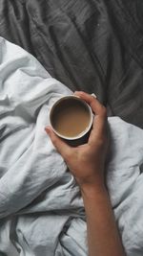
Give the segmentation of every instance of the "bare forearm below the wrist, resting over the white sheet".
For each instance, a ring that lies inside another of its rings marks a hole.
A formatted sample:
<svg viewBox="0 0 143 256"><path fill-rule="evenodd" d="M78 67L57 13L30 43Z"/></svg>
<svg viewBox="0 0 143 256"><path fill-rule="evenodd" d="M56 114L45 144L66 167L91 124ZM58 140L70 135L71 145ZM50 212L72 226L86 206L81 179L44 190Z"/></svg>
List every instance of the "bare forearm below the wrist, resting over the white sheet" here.
<svg viewBox="0 0 143 256"><path fill-rule="evenodd" d="M90 256L125 256L108 193L102 188L82 189Z"/></svg>

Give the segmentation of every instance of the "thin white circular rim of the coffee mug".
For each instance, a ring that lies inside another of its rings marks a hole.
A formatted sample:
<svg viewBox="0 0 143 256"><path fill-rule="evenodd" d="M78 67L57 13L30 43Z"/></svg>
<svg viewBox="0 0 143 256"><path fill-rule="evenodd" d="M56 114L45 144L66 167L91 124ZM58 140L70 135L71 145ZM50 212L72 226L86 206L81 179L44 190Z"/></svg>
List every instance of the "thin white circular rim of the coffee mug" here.
<svg viewBox="0 0 143 256"><path fill-rule="evenodd" d="M51 114L53 112L53 109L56 105L58 105L60 102L62 102L63 100L66 100L66 99L71 99L71 98L75 98L75 100L77 101L80 101L83 105L85 105L88 110L89 110L89 113L90 113L90 122L89 122L89 126L83 130L82 132L80 132L78 135L76 136L65 136L63 134L60 134L55 128L52 127L52 124L51 124L51 128L52 130L54 131L54 133L62 138L62 139L65 139L65 140L70 140L70 141L73 141L73 140L77 140L77 139L80 139L82 138L83 136L85 136L89 131L90 129L92 128L92 121L93 121L93 114L92 114L92 108L90 105L88 105L83 99L81 99L80 97L76 96L76 95L68 95L68 96L62 96L60 97L52 106L51 106L51 110L50 110L50 123L51 123Z"/></svg>

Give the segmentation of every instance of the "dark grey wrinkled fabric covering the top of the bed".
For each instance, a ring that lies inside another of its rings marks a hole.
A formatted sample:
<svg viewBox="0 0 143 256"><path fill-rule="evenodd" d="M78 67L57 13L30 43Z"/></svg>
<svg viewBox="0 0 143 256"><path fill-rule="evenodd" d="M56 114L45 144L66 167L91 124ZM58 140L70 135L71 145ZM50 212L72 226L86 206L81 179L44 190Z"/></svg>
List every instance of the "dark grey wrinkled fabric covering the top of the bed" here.
<svg viewBox="0 0 143 256"><path fill-rule="evenodd" d="M0 0L0 35L143 128L141 0Z"/></svg>

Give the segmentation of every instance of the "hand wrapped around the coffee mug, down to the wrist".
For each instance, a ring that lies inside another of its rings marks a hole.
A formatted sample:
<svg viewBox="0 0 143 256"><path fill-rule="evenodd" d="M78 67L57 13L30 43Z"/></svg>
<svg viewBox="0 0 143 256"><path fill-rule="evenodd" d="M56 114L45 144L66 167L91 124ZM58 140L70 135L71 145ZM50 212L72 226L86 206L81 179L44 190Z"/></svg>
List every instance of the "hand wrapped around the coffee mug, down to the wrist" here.
<svg viewBox="0 0 143 256"><path fill-rule="evenodd" d="M81 187L104 186L104 168L108 149L107 111L97 99L85 92L75 92L92 107L95 114L88 143L72 148L50 127L45 128L56 150L65 159L72 175Z"/></svg>

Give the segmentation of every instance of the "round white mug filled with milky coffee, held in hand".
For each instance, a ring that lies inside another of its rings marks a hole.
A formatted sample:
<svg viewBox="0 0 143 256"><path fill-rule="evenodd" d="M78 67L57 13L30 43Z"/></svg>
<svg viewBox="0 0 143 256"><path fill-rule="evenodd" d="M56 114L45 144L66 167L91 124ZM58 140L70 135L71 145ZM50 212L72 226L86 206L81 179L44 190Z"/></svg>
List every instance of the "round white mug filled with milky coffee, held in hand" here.
<svg viewBox="0 0 143 256"><path fill-rule="evenodd" d="M52 105L50 121L59 137L78 140L92 128L92 108L77 96L65 96Z"/></svg>

